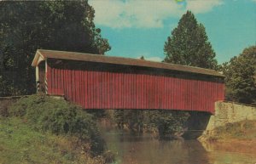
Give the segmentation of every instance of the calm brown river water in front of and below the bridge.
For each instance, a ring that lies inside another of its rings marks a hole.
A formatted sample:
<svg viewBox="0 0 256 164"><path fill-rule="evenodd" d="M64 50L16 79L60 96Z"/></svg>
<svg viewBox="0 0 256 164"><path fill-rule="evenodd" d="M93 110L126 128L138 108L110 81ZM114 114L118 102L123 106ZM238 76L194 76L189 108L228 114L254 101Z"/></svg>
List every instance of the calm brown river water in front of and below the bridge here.
<svg viewBox="0 0 256 164"><path fill-rule="evenodd" d="M101 131L118 164L256 164L256 152L236 145L222 148L197 140L159 141L150 134L136 136L106 127Z"/></svg>

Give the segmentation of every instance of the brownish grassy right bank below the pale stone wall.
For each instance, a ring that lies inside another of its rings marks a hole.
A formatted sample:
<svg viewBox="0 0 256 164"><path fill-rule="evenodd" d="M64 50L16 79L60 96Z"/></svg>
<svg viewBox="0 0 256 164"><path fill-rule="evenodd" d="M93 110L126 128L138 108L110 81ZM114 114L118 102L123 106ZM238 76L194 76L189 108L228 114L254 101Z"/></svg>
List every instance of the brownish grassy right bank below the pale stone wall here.
<svg viewBox="0 0 256 164"><path fill-rule="evenodd" d="M242 121L217 127L199 139L206 150L255 154L256 121Z"/></svg>

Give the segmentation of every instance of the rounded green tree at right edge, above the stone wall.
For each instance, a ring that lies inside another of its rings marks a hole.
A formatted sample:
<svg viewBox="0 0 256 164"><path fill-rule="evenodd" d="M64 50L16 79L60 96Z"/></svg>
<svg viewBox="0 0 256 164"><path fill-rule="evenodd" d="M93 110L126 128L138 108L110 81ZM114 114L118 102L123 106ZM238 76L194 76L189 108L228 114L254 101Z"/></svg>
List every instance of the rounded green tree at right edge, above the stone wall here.
<svg viewBox="0 0 256 164"><path fill-rule="evenodd" d="M226 76L226 99L244 104L256 104L256 46L223 64Z"/></svg>

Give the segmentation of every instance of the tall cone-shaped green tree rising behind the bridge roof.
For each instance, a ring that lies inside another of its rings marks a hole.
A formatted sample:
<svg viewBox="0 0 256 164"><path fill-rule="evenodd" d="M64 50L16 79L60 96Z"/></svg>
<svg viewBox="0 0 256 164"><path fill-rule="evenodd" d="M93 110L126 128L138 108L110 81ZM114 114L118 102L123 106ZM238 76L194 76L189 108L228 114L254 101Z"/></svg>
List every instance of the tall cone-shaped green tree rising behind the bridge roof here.
<svg viewBox="0 0 256 164"><path fill-rule="evenodd" d="M167 37L164 52L167 63L216 69L217 60L212 45L208 42L204 25L198 24L190 11L183 14L172 37Z"/></svg>

